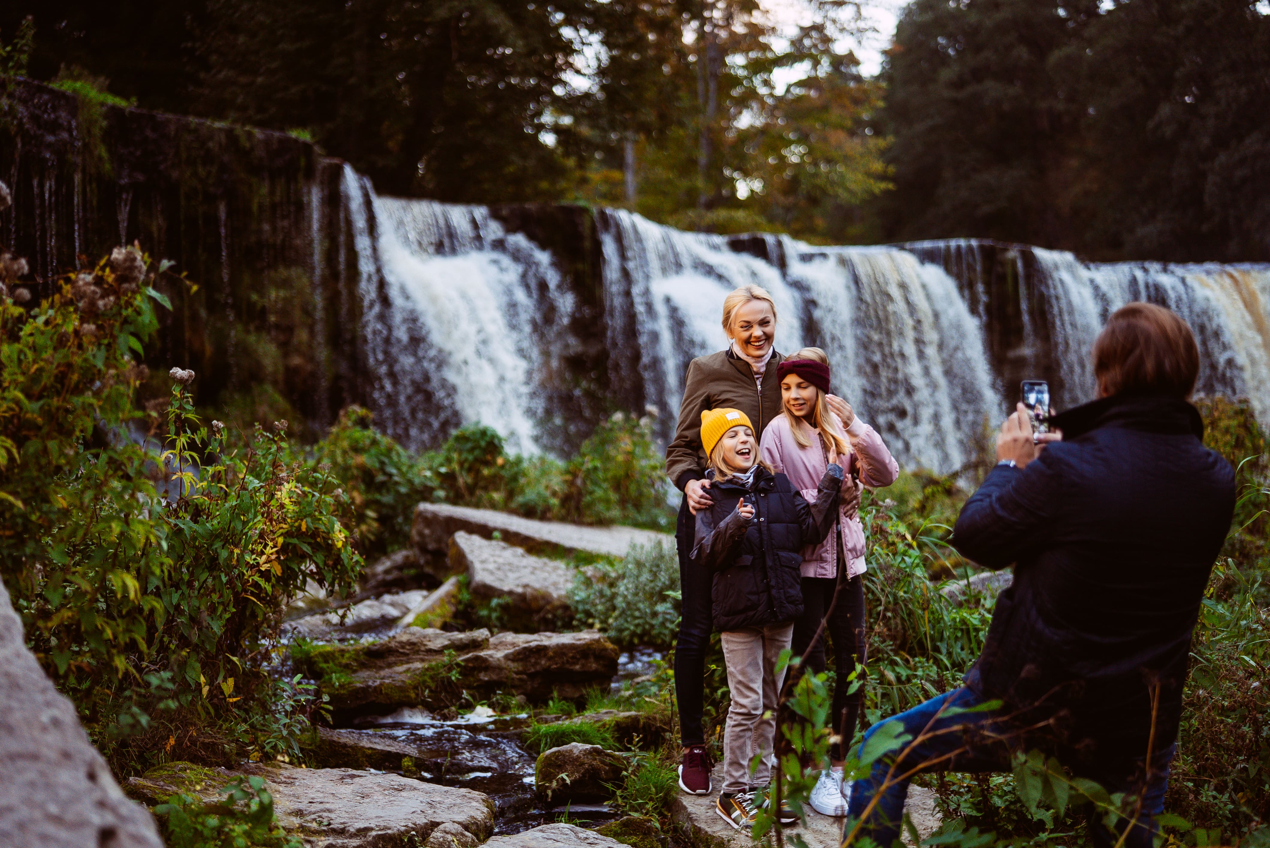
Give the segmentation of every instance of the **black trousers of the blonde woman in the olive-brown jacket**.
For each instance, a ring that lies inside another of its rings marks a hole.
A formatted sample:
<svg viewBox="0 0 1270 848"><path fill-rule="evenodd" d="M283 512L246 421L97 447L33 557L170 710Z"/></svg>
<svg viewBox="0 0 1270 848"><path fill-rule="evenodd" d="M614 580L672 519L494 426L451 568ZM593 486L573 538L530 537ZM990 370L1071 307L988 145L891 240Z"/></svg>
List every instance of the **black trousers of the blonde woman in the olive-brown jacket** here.
<svg viewBox="0 0 1270 848"><path fill-rule="evenodd" d="M679 741L685 748L706 741L701 713L705 711L706 653L710 650L711 630L712 578L704 567L688 560L692 553L692 532L693 515L688 512L688 499L685 496L674 527L682 597L679 636L674 640L674 698L679 705Z"/></svg>

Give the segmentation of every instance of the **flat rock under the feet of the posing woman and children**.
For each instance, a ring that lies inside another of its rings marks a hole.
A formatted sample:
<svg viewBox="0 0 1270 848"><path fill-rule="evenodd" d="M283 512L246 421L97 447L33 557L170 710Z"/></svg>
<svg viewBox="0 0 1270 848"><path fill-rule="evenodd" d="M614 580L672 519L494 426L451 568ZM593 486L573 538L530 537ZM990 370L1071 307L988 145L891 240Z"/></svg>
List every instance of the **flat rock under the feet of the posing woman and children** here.
<svg viewBox="0 0 1270 848"><path fill-rule="evenodd" d="M723 786L723 765L716 765L711 774L714 792L710 795L686 795L677 792L671 807L671 815L677 824L685 828L693 844L700 848L753 848L753 839L748 833L733 830L715 811L715 802L719 798L719 787ZM939 812L935 809L935 793L919 786L908 787L908 800L904 801L904 812L913 820L917 834L926 839L941 824ZM842 842L842 823L845 819L834 819L820 815L808 807L806 825L798 825L792 833L801 834L808 848L838 848ZM912 845L908 834L903 834L906 845Z"/></svg>

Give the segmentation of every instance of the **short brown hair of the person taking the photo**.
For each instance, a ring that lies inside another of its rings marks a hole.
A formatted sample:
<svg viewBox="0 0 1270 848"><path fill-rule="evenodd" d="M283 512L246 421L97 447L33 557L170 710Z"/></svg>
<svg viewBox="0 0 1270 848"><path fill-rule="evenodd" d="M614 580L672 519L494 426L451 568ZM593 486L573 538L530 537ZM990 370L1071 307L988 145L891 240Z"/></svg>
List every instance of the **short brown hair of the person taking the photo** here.
<svg viewBox="0 0 1270 848"><path fill-rule="evenodd" d="M1111 314L1093 343L1093 376L1102 395L1190 397L1199 348L1177 314L1154 303L1129 303Z"/></svg>

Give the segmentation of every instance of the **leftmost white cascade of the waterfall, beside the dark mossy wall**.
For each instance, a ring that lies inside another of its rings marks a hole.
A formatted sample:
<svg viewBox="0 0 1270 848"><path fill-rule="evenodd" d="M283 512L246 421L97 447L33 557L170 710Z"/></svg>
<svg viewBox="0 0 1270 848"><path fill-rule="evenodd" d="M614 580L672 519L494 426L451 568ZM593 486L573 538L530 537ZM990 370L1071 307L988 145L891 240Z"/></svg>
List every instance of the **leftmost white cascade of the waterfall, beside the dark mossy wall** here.
<svg viewBox="0 0 1270 848"><path fill-rule="evenodd" d="M361 292L381 423L418 448L480 421L536 452L547 414L536 388L573 311L551 255L483 206L371 194L368 212L354 234L359 262L372 258Z"/></svg>

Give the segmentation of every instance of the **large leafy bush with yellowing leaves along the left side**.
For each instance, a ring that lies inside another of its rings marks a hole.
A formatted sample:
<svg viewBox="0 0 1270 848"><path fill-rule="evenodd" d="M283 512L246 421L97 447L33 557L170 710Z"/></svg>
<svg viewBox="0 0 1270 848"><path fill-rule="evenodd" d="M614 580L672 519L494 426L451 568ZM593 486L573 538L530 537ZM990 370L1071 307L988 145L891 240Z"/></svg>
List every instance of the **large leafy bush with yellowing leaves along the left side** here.
<svg viewBox="0 0 1270 848"><path fill-rule="evenodd" d="M361 557L337 481L288 462L281 427L226 448L193 414L193 372L173 371L163 454L128 438L165 302L145 274L121 249L29 311L0 301L0 575L117 768L193 736L221 758L281 753L316 708L295 687L268 703L283 600L351 589Z"/></svg>

